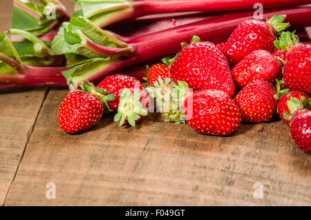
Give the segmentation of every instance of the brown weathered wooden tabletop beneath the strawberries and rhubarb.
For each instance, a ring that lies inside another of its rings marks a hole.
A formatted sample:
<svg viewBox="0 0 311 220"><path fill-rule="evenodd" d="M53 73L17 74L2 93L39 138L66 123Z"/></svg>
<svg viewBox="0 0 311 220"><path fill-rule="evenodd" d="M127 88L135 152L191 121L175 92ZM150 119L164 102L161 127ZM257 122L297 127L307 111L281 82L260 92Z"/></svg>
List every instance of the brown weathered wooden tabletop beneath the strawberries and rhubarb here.
<svg viewBox="0 0 311 220"><path fill-rule="evenodd" d="M0 11L3 32L11 1L0 1ZM137 128L119 128L107 114L92 130L70 135L57 123L67 92L0 91L1 205L311 204L311 157L294 146L281 121L211 137L158 114ZM46 197L49 182L56 199Z"/></svg>

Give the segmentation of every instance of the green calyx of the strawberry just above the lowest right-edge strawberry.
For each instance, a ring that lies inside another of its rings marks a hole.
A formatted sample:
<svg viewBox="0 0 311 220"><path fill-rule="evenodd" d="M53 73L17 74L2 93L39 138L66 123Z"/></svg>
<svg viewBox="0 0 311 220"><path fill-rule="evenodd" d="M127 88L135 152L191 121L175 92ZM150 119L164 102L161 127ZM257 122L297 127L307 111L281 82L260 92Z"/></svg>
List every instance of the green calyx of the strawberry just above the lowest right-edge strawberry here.
<svg viewBox="0 0 311 220"><path fill-rule="evenodd" d="M297 98L290 96L290 100L286 101L286 103L288 106L289 114L287 112L284 112L283 117L284 119L291 121L294 112L303 109L308 110L310 108L311 98L305 99L305 97L301 96L301 100L299 100Z"/></svg>

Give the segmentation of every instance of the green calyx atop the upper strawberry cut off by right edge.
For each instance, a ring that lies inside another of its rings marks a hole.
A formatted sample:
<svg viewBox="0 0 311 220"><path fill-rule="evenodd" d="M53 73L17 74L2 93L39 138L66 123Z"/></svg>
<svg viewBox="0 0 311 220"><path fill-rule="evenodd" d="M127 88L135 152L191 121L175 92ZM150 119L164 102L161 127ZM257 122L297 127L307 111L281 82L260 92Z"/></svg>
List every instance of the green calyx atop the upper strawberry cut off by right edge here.
<svg viewBox="0 0 311 220"><path fill-rule="evenodd" d="M299 44L299 37L294 32L282 32L281 36L274 41L274 46L280 50L289 52L292 48Z"/></svg>

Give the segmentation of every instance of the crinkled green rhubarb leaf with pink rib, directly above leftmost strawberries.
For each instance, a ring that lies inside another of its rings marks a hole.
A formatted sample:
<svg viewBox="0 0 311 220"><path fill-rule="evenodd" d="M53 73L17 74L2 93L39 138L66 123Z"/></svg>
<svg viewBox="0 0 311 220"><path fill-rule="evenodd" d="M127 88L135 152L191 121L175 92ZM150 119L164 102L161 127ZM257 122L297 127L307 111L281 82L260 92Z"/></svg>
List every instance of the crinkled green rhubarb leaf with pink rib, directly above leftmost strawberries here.
<svg viewBox="0 0 311 220"><path fill-rule="evenodd" d="M50 50L50 54L68 53L109 60L115 55L129 55L133 50L91 21L83 17L73 17L69 23L63 23L63 27L59 28Z"/></svg>

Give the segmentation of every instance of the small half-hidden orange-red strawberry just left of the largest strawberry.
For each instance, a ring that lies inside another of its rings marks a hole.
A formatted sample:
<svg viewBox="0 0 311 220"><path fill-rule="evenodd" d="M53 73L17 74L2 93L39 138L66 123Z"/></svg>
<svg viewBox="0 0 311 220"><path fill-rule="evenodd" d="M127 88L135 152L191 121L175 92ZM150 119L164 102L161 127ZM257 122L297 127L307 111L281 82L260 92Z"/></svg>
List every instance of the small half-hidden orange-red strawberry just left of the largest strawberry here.
<svg viewBox="0 0 311 220"><path fill-rule="evenodd" d="M171 68L164 63L157 63L151 66L150 69L147 67L147 70L149 86L154 86L153 83L158 81L159 77L162 79L171 78Z"/></svg>

